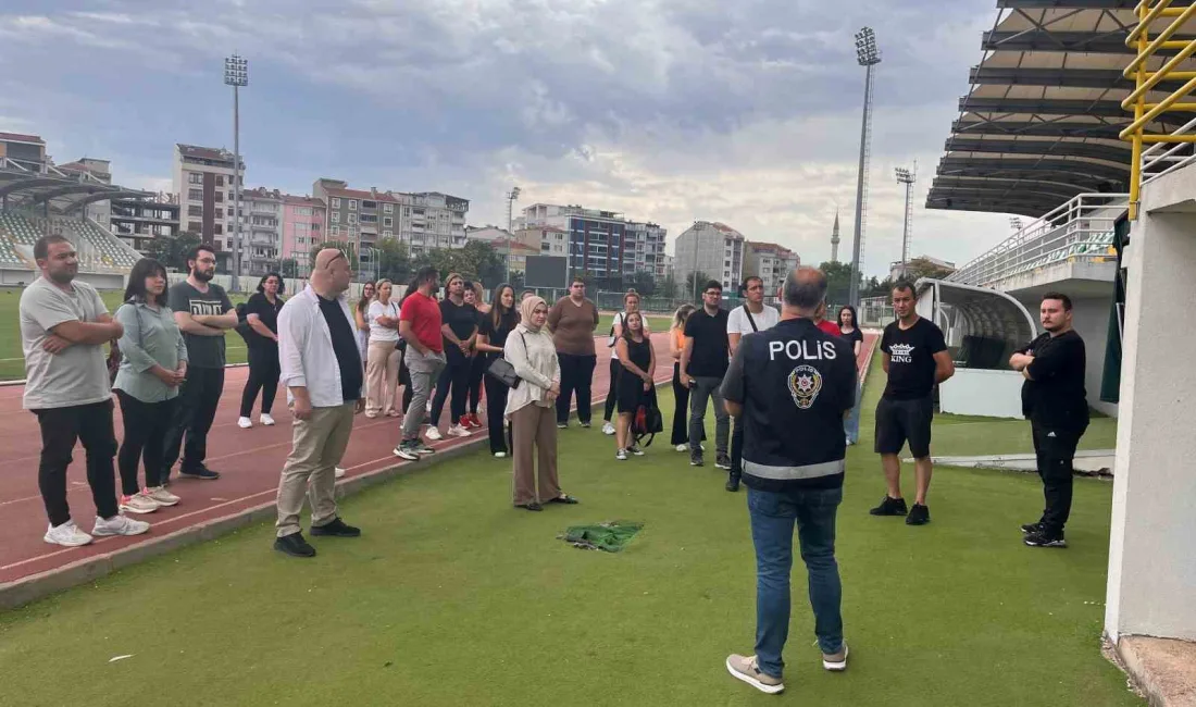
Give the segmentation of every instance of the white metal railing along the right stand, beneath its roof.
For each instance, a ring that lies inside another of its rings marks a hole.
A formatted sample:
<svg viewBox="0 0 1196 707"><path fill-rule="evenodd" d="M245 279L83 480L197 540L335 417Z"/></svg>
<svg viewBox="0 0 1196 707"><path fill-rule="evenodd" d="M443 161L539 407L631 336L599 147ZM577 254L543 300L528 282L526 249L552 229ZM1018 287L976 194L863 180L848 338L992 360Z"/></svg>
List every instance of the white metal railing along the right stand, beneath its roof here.
<svg viewBox="0 0 1196 707"><path fill-rule="evenodd" d="M1013 275L1058 262L1116 258L1113 224L1125 212L1128 196L1080 194L959 268L947 280L993 287Z"/></svg>

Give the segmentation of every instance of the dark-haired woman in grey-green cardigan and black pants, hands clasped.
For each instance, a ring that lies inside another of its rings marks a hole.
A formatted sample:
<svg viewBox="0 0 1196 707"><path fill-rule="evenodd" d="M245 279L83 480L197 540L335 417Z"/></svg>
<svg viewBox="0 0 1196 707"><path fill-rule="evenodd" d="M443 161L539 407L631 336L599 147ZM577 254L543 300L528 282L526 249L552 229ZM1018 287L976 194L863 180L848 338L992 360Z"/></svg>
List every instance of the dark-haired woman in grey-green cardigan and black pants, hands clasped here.
<svg viewBox="0 0 1196 707"><path fill-rule="evenodd" d="M187 378L187 345L166 306L166 268L141 258L129 273L124 304L116 310L124 327L117 342L121 367L112 390L121 402L124 439L116 456L121 470L121 510L152 513L179 498L161 486L166 428L175 418L178 386ZM146 484L138 483L138 462L145 458Z"/></svg>

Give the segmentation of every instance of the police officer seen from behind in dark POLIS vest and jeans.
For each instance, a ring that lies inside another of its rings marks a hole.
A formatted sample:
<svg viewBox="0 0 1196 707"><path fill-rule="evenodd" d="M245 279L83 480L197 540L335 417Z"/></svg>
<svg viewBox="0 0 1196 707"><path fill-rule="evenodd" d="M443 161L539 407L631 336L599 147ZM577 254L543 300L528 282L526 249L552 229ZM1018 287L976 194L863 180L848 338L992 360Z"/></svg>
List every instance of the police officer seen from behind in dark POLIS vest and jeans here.
<svg viewBox="0 0 1196 707"><path fill-rule="evenodd" d="M722 384L727 412L744 423L743 483L756 548L756 654L730 656L726 665L764 693L785 689L794 524L823 668L847 668L835 517L843 499L843 415L855 402L855 356L846 340L812 321L826 295L825 274L798 268L780 295L780 323L740 340Z"/></svg>

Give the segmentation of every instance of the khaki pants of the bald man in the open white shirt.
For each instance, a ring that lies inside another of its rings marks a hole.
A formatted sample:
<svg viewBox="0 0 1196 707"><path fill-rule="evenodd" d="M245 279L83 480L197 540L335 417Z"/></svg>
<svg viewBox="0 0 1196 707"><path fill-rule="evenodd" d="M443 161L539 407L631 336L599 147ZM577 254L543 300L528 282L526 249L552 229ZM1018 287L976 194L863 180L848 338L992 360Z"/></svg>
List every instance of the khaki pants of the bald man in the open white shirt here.
<svg viewBox="0 0 1196 707"><path fill-rule="evenodd" d="M279 520L274 524L279 537L299 532L304 496L311 499L312 528L336 518L336 465L349 446L354 407L356 401L313 408L311 419L294 421L291 456L279 480Z"/></svg>

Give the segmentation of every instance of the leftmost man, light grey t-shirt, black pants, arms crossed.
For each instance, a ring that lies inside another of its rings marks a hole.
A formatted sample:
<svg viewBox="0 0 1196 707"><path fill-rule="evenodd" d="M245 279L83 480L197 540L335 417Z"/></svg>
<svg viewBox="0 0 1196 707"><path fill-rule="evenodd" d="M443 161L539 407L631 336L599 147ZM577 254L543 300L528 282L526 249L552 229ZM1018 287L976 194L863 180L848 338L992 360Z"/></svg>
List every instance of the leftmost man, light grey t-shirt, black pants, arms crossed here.
<svg viewBox="0 0 1196 707"><path fill-rule="evenodd" d="M20 294L26 379L22 402L42 428L37 484L50 519L44 540L78 547L90 543L92 535L141 535L150 524L121 516L116 502L112 391L103 352L103 345L120 339L124 328L112 321L94 287L74 282L79 261L69 240L39 238L33 260L42 276ZM92 535L74 524L67 505L67 467L75 440L87 455L87 484L96 504Z"/></svg>

